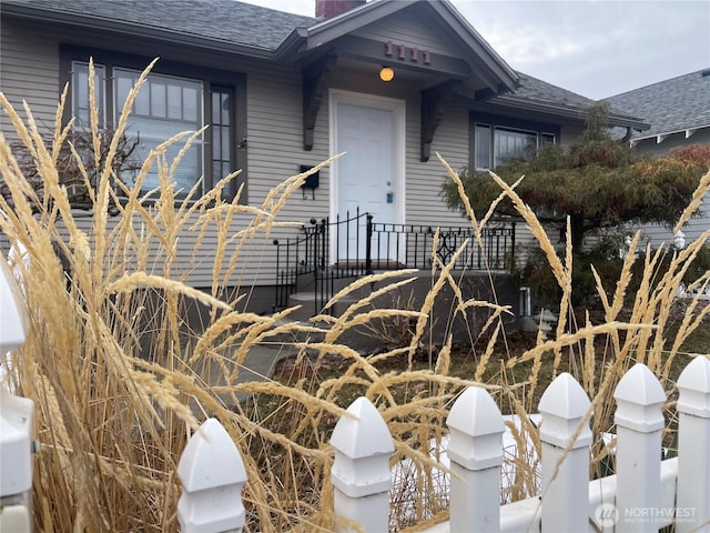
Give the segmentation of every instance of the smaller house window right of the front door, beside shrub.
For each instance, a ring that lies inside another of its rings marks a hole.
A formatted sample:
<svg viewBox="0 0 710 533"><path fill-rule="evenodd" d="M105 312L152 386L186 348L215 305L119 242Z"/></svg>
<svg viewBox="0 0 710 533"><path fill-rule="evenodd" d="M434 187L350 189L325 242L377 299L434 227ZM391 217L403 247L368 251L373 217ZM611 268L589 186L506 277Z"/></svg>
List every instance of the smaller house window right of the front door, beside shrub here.
<svg viewBox="0 0 710 533"><path fill-rule="evenodd" d="M523 122L516 127L510 119L480 114L471 121L471 162L476 170L500 167L514 158L534 158L540 147L554 143L559 135L554 132L559 128L551 124Z"/></svg>

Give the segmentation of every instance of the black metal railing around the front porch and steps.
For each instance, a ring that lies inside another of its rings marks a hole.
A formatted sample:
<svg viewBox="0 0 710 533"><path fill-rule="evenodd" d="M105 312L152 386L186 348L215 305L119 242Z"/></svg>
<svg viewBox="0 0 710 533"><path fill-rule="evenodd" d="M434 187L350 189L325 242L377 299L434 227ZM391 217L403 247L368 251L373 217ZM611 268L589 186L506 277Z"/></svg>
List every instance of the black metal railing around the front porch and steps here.
<svg viewBox="0 0 710 533"><path fill-rule="evenodd" d="M508 270L515 249L515 223L499 222L485 228L481 239L470 227L437 228L416 224L374 222L369 213L357 210L344 219L311 219L295 239L275 240L276 309L288 305L292 294L314 295L314 314L341 289L337 280L357 279L375 271L429 269L434 253L448 263L466 240L466 248L454 265L457 270Z"/></svg>

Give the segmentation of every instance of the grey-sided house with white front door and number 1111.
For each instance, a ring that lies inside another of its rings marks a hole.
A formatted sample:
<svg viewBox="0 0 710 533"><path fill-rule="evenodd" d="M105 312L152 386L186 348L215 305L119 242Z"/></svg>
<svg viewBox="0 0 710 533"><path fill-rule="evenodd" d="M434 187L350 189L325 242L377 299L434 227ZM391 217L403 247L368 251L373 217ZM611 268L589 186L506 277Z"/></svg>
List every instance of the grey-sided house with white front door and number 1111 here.
<svg viewBox="0 0 710 533"><path fill-rule="evenodd" d="M242 169L240 201L252 205L285 178L346 152L311 178L281 218L307 225L359 213L349 238L337 230L321 259L367 270L373 261L412 265L397 255L403 242L410 247L405 228L430 235L468 225L439 201L446 172L436 152L457 170L491 168L530 145L570 142L584 129L580 109L590 100L514 71L447 0L314 2L315 18L233 0L2 0L0 89L51 124L70 83L65 119L73 113L81 127L93 58L102 119L111 123L140 71L160 58L133 107L129 132L140 133L140 150L207 125L178 170L179 187L203 177L207 189ZM646 128L616 111L610 122ZM381 224L377 244L365 239L365 212ZM234 230L245 220L235 217ZM282 243L285 231L276 235ZM449 252L455 234L447 233ZM506 249L514 242L513 233L491 238ZM187 281L207 288L213 258L195 261L194 239L185 233L176 253ZM271 239L252 247L260 259L241 283L273 288L278 247ZM271 308L268 294L256 311Z"/></svg>

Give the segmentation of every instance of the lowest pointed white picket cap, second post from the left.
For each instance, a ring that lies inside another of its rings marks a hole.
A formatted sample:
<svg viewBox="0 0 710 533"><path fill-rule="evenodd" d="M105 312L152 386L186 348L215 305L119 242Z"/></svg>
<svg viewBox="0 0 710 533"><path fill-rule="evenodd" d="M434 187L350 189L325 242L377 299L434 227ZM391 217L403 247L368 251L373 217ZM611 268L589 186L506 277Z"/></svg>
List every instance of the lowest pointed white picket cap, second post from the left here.
<svg viewBox="0 0 710 533"><path fill-rule="evenodd" d="M242 456L216 419L207 419L190 439L178 464L178 476L189 492L246 481Z"/></svg>

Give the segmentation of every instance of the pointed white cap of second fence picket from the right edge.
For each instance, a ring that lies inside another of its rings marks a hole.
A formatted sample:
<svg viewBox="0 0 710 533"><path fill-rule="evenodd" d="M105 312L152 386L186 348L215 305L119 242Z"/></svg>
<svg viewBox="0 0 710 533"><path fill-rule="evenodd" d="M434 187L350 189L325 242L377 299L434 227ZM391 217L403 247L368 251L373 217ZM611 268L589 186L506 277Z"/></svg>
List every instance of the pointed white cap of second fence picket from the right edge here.
<svg viewBox="0 0 710 533"><path fill-rule="evenodd" d="M640 433L651 433L663 428L661 405L666 402L666 392L643 363L636 363L619 380L613 399L617 401L613 415L617 425Z"/></svg>

